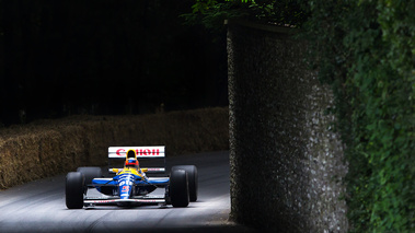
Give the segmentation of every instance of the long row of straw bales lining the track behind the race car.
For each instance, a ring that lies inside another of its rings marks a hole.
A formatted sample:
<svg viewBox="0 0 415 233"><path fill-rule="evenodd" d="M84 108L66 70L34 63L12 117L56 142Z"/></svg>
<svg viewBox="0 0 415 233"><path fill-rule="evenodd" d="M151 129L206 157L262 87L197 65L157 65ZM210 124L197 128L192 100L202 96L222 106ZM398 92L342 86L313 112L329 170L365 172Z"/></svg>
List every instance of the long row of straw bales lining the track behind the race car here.
<svg viewBox="0 0 415 233"><path fill-rule="evenodd" d="M108 147L166 145L168 156L229 149L228 108L138 116L71 116L0 129L0 189L102 166Z"/></svg>

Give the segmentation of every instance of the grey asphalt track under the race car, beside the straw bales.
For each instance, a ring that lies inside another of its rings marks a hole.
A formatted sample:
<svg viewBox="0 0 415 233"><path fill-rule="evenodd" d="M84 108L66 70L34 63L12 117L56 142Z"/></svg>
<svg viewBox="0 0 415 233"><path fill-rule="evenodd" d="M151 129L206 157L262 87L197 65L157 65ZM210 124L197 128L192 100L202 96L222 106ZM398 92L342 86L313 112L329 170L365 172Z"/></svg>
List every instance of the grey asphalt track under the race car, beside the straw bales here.
<svg viewBox="0 0 415 233"><path fill-rule="evenodd" d="M168 167L178 164L198 168L198 200L187 208L69 210L65 175L60 175L0 191L0 232L253 232L228 221L229 152L168 158Z"/></svg>

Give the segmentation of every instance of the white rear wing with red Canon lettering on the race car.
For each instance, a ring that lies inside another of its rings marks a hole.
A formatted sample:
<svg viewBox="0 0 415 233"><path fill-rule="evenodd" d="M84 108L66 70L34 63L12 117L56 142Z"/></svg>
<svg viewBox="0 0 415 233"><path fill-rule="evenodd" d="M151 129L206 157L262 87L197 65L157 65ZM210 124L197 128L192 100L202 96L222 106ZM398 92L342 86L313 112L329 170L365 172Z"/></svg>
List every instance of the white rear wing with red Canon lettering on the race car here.
<svg viewBox="0 0 415 233"><path fill-rule="evenodd" d="M114 173L113 168L111 167L109 161L118 160L118 161L124 162L126 160L126 153L128 150L135 150L136 151L137 160L140 162L140 167L141 167L141 161L149 160L149 159L159 159L158 164L163 163L163 165L164 165L164 167L146 167L146 168L148 168L148 171L146 173L163 173L163 174L165 173L165 147L164 145L158 145L158 147L109 147L108 148L108 173ZM160 162L160 160L163 160L163 161ZM153 164L153 163L151 163L151 164ZM143 168L143 167L141 167L141 168Z"/></svg>

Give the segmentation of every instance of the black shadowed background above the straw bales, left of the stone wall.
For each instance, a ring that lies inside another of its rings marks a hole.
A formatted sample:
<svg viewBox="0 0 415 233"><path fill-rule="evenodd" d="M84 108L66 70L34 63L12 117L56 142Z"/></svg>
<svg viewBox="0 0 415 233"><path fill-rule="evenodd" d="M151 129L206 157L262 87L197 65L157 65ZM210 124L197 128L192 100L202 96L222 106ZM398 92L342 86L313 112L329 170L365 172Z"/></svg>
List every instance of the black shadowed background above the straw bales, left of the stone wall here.
<svg viewBox="0 0 415 233"><path fill-rule="evenodd" d="M0 126L224 106L226 33L193 0L0 0Z"/></svg>

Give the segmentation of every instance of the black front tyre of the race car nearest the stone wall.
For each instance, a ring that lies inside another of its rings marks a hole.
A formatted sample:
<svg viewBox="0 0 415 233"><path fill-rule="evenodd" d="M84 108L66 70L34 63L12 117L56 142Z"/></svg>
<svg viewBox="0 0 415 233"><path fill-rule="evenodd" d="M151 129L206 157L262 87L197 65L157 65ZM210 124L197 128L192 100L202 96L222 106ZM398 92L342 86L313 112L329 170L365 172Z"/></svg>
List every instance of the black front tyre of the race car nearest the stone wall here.
<svg viewBox="0 0 415 233"><path fill-rule="evenodd" d="M184 170L174 170L170 175L170 201L173 207L187 207L188 182L187 173Z"/></svg>

